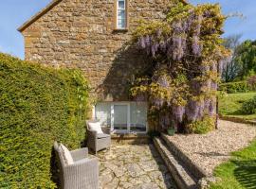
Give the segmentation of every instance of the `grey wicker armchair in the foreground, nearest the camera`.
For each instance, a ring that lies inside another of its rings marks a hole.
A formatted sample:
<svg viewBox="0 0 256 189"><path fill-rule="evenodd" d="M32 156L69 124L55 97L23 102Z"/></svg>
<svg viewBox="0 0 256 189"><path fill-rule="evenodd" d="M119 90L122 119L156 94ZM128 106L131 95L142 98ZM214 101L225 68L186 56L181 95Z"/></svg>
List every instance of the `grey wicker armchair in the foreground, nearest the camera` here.
<svg viewBox="0 0 256 189"><path fill-rule="evenodd" d="M99 163L97 158L88 159L88 148L70 151L74 163L66 164L57 142L54 149L60 168L62 189L98 189Z"/></svg>

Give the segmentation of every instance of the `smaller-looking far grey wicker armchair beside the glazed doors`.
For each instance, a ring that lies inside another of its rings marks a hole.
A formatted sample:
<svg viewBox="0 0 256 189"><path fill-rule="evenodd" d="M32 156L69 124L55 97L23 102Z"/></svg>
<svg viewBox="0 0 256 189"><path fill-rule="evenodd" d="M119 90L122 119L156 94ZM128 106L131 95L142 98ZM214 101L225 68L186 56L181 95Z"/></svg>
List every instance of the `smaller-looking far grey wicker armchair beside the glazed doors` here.
<svg viewBox="0 0 256 189"><path fill-rule="evenodd" d="M101 149L109 148L111 146L111 135L109 128L101 128L103 134L97 134L96 131L91 130L89 128L89 123L98 122L97 120L87 120L86 127L87 127L87 146L93 150L96 154Z"/></svg>

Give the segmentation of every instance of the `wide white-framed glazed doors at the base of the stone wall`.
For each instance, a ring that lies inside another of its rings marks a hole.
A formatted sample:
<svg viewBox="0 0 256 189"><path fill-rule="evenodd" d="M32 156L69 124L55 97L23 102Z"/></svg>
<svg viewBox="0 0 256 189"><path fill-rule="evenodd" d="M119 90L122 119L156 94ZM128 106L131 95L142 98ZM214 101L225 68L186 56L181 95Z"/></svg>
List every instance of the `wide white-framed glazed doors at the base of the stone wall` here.
<svg viewBox="0 0 256 189"><path fill-rule="evenodd" d="M113 133L145 133L147 110L146 102L100 102L93 114Z"/></svg>

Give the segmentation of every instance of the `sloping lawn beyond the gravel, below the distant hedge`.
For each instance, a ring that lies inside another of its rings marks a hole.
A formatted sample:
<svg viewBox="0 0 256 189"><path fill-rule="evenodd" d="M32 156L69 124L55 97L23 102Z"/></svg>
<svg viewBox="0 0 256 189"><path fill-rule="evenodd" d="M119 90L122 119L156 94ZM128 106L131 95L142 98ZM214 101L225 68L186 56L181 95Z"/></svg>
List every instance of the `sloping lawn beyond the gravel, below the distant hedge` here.
<svg viewBox="0 0 256 189"><path fill-rule="evenodd" d="M239 117L246 120L256 119L256 114L243 114L240 110L242 104L252 98L256 93L228 94L219 97L219 113L226 116Z"/></svg>

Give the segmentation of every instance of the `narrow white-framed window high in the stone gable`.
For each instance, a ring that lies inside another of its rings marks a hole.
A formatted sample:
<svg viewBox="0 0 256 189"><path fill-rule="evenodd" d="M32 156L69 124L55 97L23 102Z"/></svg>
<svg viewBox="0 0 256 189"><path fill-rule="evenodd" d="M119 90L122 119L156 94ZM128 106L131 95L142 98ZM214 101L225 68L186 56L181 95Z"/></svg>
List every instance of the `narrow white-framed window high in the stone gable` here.
<svg viewBox="0 0 256 189"><path fill-rule="evenodd" d="M127 26L126 17L126 0L116 0L117 1L117 28L125 29Z"/></svg>

